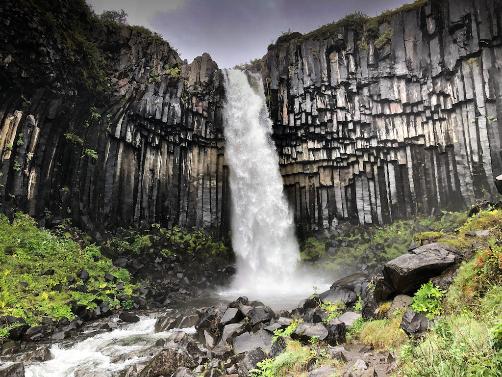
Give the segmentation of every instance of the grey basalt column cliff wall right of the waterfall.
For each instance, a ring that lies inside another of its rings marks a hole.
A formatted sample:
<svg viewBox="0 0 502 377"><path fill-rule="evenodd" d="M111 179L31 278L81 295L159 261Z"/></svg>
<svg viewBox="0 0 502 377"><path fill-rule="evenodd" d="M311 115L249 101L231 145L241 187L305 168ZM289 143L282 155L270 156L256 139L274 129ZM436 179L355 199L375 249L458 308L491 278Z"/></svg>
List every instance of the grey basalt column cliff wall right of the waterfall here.
<svg viewBox="0 0 502 377"><path fill-rule="evenodd" d="M496 193L501 11L491 0L429 3L395 14L381 49L343 28L269 48L254 69L271 82L297 223L382 223Z"/></svg>

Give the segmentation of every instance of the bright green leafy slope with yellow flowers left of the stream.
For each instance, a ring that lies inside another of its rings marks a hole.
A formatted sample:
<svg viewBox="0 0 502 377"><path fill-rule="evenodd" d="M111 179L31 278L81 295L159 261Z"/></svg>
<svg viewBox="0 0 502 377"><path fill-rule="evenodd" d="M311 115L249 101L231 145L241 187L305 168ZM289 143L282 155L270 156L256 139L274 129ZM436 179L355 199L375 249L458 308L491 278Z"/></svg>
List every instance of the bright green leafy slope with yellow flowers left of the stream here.
<svg viewBox="0 0 502 377"><path fill-rule="evenodd" d="M85 281L89 293L75 290L82 284L77 277L81 269L90 275ZM124 289L118 291L106 281L107 273L124 282ZM75 282L69 284L68 276ZM58 285L61 292L55 288ZM112 266L98 246L79 244L70 234L40 231L29 215L16 213L14 224L0 215L0 315L22 317L30 325L39 324L43 317L71 320L74 315L65 305L68 301L92 309L96 306L92 300L99 298L109 301L113 309L121 305L116 297L131 295L134 288L130 273Z"/></svg>

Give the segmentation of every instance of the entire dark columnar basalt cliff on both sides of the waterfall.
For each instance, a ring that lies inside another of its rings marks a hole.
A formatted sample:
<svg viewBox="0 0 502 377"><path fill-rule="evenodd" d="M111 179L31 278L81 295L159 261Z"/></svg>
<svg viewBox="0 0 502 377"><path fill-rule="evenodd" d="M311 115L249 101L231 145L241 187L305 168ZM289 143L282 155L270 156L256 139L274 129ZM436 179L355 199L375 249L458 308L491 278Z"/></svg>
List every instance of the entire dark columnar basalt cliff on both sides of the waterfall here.
<svg viewBox="0 0 502 377"><path fill-rule="evenodd" d="M64 26L68 4L56 20L23 4L0 9L3 210L95 232L156 222L226 234L223 76L209 55L189 64L166 42L102 24L79 49L48 25ZM344 25L280 38L253 67L301 230L496 193L502 6L419 2L381 20L372 35Z"/></svg>

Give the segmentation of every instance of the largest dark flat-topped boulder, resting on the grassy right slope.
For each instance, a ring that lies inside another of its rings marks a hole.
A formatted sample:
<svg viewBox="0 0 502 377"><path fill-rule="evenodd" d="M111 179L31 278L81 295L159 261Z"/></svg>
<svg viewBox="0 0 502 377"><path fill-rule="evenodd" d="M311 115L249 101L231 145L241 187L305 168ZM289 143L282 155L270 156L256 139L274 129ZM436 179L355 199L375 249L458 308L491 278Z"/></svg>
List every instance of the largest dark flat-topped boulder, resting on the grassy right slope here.
<svg viewBox="0 0 502 377"><path fill-rule="evenodd" d="M395 292L413 293L429 278L440 275L459 261L461 255L459 250L446 243L423 245L388 262L384 266L384 278Z"/></svg>

